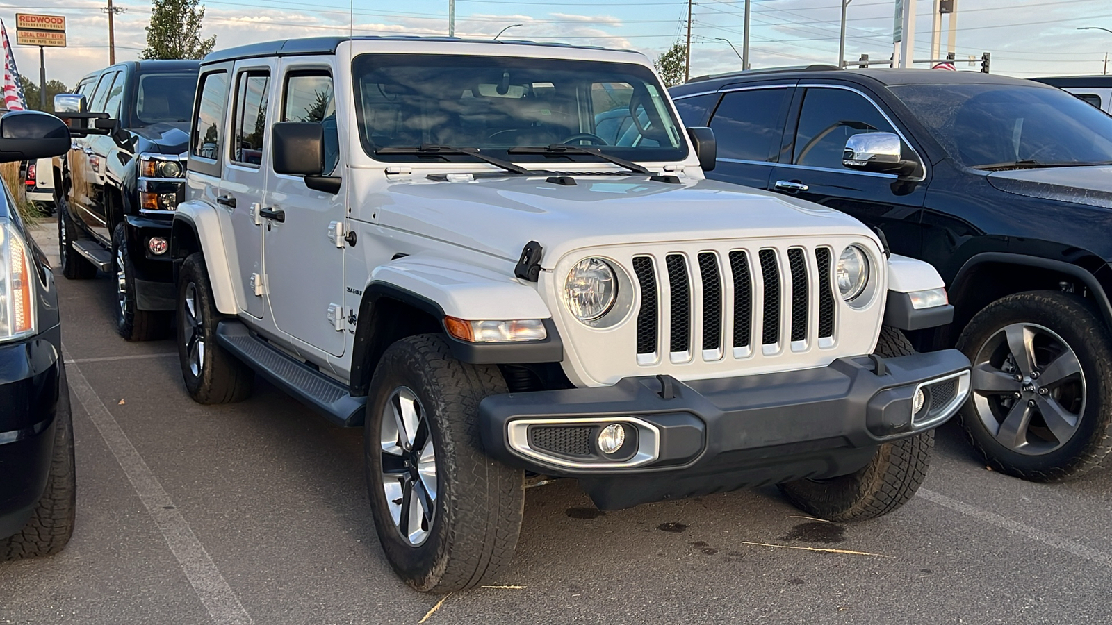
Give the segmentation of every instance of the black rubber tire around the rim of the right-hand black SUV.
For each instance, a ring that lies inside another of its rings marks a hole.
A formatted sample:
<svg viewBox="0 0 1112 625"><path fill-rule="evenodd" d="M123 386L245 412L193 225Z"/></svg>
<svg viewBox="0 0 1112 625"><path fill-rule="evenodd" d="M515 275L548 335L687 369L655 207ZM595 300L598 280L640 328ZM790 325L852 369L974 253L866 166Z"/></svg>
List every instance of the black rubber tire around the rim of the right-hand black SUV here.
<svg viewBox="0 0 1112 625"><path fill-rule="evenodd" d="M995 468L1029 479L1068 477L1084 468L1109 435L1109 419L1112 418L1109 333L1085 299L1058 291L1027 291L996 300L974 315L962 331L957 348L974 360L989 338L1005 326L1019 323L1051 329L1078 356L1085 379L1085 410L1078 430L1058 449L1033 456L996 442L977 415L972 397L962 406L959 420L973 445Z"/></svg>

